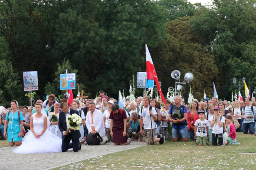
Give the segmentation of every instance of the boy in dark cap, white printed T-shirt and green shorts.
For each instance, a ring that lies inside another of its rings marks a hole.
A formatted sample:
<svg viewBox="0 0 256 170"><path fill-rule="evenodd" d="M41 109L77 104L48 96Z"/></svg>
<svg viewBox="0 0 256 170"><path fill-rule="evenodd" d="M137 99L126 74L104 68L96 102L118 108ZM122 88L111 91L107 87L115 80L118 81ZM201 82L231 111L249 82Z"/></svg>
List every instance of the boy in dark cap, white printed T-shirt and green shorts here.
<svg viewBox="0 0 256 170"><path fill-rule="evenodd" d="M208 145L209 140L209 122L204 119L204 111L198 112L199 119L195 122L195 139L196 143L201 145ZM208 139L208 140L207 140Z"/></svg>

